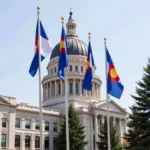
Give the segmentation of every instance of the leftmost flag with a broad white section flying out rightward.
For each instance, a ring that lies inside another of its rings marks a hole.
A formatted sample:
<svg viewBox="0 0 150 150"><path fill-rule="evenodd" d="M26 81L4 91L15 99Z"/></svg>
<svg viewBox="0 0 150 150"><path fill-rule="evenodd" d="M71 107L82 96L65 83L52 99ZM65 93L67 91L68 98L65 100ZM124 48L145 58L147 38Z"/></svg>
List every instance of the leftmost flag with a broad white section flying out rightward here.
<svg viewBox="0 0 150 150"><path fill-rule="evenodd" d="M40 51L41 51L41 61L45 59L45 57L52 52L52 44L49 41L42 22L40 21L40 27L38 26L38 21L37 21L37 26L36 26L36 35L35 35L35 54L33 57L33 60L31 62L31 66L29 69L29 73L31 76L35 76L37 69L39 68L39 48L38 48L38 29L40 28Z"/></svg>

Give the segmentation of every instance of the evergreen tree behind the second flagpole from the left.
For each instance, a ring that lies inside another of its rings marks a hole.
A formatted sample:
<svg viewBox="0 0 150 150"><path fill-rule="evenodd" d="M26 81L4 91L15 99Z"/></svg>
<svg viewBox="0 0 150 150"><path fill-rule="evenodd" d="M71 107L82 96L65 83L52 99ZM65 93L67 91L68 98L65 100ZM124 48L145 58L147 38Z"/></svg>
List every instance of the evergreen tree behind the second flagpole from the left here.
<svg viewBox="0 0 150 150"><path fill-rule="evenodd" d="M68 111L70 150L84 150L87 145L84 135L84 126L80 124L77 112L72 105ZM66 150L66 120L61 124L61 132L57 138L57 150Z"/></svg>

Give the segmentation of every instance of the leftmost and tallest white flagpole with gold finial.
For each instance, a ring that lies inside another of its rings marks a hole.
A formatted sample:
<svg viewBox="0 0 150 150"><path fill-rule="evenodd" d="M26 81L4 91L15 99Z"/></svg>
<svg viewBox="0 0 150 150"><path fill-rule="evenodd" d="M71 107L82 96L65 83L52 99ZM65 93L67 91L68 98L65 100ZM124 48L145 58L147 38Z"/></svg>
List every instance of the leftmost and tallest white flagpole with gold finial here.
<svg viewBox="0 0 150 150"><path fill-rule="evenodd" d="M40 150L43 150L43 116L42 116L42 94L41 94L41 41L40 41L40 7L37 7L37 15L38 15L38 54L39 54L39 106L40 106Z"/></svg>

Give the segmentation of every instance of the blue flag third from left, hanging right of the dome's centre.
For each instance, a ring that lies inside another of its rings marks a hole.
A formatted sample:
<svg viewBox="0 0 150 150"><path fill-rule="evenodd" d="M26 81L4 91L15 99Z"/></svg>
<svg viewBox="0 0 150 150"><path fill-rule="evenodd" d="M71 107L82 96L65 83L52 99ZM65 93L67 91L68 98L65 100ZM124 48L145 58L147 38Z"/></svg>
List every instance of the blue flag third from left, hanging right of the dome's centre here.
<svg viewBox="0 0 150 150"><path fill-rule="evenodd" d="M82 88L85 90L92 90L92 79L93 79L93 66L95 66L91 42L89 41L88 45L88 56L86 62L86 72L82 84Z"/></svg>

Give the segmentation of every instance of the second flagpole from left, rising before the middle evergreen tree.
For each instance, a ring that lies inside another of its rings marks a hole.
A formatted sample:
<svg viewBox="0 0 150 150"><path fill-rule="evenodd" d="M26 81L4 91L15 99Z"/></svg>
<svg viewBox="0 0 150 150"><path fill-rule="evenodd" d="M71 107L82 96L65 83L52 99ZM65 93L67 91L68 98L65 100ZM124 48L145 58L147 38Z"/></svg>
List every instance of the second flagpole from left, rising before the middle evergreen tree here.
<svg viewBox="0 0 150 150"><path fill-rule="evenodd" d="M61 17L62 25L64 18ZM69 123L68 123L68 82L67 82L67 67L65 68L65 116L66 116L66 150L69 150Z"/></svg>

